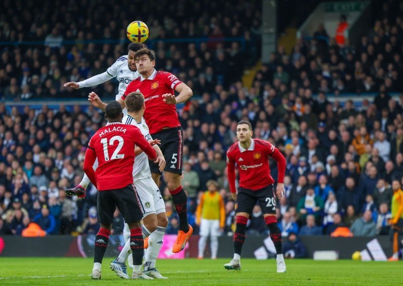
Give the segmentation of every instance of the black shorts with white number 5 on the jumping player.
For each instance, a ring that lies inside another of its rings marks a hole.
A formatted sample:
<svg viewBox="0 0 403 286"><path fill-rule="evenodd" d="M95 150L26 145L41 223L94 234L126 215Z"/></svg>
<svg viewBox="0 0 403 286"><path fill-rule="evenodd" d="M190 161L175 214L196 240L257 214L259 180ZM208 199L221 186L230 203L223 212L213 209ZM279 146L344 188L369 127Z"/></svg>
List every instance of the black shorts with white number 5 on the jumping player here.
<svg viewBox="0 0 403 286"><path fill-rule="evenodd" d="M167 165L166 172L182 174L183 160L183 130L182 127L174 127L161 130L158 133L151 134L153 139L160 139L162 154L165 157ZM151 173L160 173L158 164L149 161Z"/></svg>

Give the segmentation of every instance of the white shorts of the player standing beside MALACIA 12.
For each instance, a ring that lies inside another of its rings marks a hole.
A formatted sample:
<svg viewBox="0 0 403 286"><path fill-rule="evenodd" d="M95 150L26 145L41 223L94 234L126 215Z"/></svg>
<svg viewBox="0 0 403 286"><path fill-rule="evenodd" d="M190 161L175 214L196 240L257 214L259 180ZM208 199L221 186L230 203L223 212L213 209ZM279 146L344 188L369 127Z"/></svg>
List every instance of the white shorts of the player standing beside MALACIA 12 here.
<svg viewBox="0 0 403 286"><path fill-rule="evenodd" d="M158 215L158 213L165 212L164 199L151 177L135 181L135 187L139 195L143 218L151 213Z"/></svg>

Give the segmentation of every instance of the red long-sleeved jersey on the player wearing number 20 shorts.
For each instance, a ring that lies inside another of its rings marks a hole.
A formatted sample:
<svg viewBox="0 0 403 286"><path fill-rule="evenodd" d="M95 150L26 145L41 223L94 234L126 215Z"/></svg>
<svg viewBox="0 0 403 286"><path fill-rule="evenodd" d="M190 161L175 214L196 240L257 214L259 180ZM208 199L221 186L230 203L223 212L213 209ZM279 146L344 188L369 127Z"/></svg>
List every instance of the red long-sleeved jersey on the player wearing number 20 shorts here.
<svg viewBox="0 0 403 286"><path fill-rule="evenodd" d="M228 180L231 192L235 189L235 166L239 171L239 186L250 190L258 190L274 183L270 173L268 157L278 162L278 182L283 183L286 159L270 142L252 139L248 150L243 149L239 142L234 143L227 151Z"/></svg>

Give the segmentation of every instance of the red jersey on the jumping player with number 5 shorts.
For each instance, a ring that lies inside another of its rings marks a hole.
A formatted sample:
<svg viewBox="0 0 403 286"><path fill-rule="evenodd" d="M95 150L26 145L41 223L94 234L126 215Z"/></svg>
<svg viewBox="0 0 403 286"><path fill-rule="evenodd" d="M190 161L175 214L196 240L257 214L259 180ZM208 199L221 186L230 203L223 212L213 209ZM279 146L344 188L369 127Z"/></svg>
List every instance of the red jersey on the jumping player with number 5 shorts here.
<svg viewBox="0 0 403 286"><path fill-rule="evenodd" d="M142 76L132 81L126 88L122 99L131 92L141 92L145 98L146 111L144 118L150 127L150 133L154 134L163 128L174 128L180 126L178 113L175 104L163 102L163 94L174 94L176 86L182 82L168 72L157 72L145 79Z"/></svg>

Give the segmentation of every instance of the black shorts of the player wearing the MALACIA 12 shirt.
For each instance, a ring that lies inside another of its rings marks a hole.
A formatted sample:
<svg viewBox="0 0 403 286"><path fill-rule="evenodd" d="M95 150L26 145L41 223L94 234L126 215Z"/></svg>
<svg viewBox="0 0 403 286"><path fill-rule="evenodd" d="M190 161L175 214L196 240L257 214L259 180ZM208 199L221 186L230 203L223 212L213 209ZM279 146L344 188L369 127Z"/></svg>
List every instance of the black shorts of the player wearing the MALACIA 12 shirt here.
<svg viewBox="0 0 403 286"><path fill-rule="evenodd" d="M113 223L116 206L127 224L143 219L139 197L133 185L116 190L98 191L97 209L98 220L101 224Z"/></svg>

